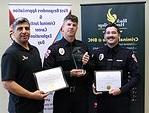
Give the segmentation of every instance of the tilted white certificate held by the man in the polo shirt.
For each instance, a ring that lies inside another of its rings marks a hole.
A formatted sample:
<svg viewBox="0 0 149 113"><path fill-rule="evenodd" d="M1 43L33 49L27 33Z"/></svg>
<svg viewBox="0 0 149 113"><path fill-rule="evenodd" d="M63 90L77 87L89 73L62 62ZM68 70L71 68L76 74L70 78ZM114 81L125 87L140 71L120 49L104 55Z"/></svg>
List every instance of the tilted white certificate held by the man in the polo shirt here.
<svg viewBox="0 0 149 113"><path fill-rule="evenodd" d="M39 90L45 93L68 87L61 67L36 72L34 76Z"/></svg>

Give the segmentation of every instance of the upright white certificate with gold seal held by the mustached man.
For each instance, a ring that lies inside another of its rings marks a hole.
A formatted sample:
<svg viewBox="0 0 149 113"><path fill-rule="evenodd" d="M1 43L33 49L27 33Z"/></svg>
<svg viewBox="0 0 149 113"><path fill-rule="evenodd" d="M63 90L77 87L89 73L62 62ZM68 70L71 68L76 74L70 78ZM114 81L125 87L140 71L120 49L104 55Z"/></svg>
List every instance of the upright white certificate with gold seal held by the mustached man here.
<svg viewBox="0 0 149 113"><path fill-rule="evenodd" d="M122 71L95 71L96 91L109 91L121 87Z"/></svg>

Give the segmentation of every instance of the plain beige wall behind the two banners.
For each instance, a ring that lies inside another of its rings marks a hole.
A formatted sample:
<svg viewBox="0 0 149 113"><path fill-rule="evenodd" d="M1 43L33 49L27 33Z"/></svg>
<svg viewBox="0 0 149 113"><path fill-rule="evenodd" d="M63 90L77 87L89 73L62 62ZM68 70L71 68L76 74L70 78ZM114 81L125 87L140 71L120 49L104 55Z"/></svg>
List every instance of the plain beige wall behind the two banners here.
<svg viewBox="0 0 149 113"><path fill-rule="evenodd" d="M71 3L72 4L72 13L79 17L81 20L81 10L80 4L85 3L113 3L113 2L136 2L136 1L143 1L143 0L25 0L26 3ZM0 4L0 34L1 34L1 41L0 41L0 58L5 49L10 44L9 39L9 29L8 29L8 3L24 3L24 0L1 0ZM145 113L149 113L149 54L148 48L149 45L149 0L146 0L146 7L145 7ZM136 23L137 24L137 23ZM80 24L81 25L81 24ZM77 36L81 36L80 31L81 26L79 27ZM142 95L143 96L143 95ZM8 94L6 90L2 87L0 82L0 113L7 113L7 102L8 102Z"/></svg>

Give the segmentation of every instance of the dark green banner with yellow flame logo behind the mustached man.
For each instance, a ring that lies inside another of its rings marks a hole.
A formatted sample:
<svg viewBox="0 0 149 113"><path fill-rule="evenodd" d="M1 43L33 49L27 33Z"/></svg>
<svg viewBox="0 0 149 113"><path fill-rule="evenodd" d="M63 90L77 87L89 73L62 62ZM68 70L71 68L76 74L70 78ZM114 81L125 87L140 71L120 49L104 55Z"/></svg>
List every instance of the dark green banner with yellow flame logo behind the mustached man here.
<svg viewBox="0 0 149 113"><path fill-rule="evenodd" d="M88 44L91 51L104 44L103 33L109 22L119 26L120 45L133 50L140 63L141 81L131 90L130 111L144 113L145 2L82 4L81 19L82 40ZM96 112L95 97L91 104L90 113Z"/></svg>

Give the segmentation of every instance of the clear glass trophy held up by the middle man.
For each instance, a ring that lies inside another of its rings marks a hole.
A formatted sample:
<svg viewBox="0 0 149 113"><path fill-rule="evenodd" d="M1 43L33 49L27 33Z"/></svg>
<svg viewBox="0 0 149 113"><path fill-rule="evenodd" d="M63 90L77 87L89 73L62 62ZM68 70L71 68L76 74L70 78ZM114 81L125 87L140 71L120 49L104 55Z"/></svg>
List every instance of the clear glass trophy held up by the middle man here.
<svg viewBox="0 0 149 113"><path fill-rule="evenodd" d="M73 58L76 69L83 68L82 57L84 53L85 53L85 50L81 47L75 47L72 50L72 58Z"/></svg>

